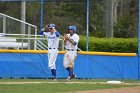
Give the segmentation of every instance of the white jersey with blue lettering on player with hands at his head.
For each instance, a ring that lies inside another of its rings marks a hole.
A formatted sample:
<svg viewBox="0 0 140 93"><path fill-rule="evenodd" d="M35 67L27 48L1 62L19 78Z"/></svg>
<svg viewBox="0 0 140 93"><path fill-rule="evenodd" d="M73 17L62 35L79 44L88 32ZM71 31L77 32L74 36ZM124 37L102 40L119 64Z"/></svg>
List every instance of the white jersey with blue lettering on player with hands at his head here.
<svg viewBox="0 0 140 93"><path fill-rule="evenodd" d="M48 40L48 48L58 48L59 45L59 32L51 34L51 32L43 32Z"/></svg>

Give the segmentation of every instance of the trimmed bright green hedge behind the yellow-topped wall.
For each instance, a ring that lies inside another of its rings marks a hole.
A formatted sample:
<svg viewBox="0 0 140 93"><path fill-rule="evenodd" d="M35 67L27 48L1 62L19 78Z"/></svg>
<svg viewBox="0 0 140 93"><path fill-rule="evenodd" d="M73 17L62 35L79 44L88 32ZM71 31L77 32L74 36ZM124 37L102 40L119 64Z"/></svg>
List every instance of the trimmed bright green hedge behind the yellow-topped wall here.
<svg viewBox="0 0 140 93"><path fill-rule="evenodd" d="M137 38L94 38L89 37L89 51L136 53L138 48ZM86 50L86 37L80 36L79 48Z"/></svg>

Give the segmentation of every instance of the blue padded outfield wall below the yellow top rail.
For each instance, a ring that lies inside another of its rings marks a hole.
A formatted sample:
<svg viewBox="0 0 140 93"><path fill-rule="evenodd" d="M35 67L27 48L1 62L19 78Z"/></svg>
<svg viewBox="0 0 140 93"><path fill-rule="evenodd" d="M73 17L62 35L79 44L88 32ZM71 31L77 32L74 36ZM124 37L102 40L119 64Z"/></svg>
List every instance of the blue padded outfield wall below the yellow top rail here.
<svg viewBox="0 0 140 93"><path fill-rule="evenodd" d="M57 58L57 77L66 78L63 54ZM139 79L138 56L79 54L74 71L77 78ZM0 53L1 78L50 78L47 54Z"/></svg>

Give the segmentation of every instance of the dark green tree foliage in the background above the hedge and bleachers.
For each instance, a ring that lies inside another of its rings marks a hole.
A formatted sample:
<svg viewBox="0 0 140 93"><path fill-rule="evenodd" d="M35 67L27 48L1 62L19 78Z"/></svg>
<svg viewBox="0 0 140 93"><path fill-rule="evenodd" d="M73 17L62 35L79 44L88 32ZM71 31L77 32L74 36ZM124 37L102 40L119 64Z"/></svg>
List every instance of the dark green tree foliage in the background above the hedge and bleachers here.
<svg viewBox="0 0 140 93"><path fill-rule="evenodd" d="M69 25L76 25L77 33L86 34L86 0L44 0L43 24L55 23L63 34ZM47 2L48 1L48 2ZM90 0L90 36L105 37L105 2ZM138 0L117 0L115 37L136 37ZM0 2L0 12L20 19L20 2ZM26 3L26 21L40 27L40 2Z"/></svg>

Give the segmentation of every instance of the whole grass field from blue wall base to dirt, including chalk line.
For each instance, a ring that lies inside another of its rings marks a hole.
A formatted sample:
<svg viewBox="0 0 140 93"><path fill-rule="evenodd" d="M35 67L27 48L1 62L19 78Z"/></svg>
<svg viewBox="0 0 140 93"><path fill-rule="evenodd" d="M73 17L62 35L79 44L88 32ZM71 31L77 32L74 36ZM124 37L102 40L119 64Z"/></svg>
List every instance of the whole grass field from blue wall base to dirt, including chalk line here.
<svg viewBox="0 0 140 93"><path fill-rule="evenodd" d="M0 79L0 93L66 93L70 91L140 86L140 81L130 80L123 81L129 84L120 85L101 83L105 83L106 81L107 80L73 80L71 81L72 83L70 83L64 79L60 79L58 82L52 82L52 80L48 79Z"/></svg>

